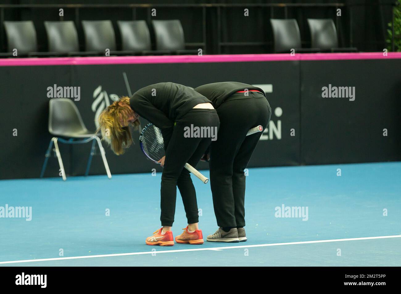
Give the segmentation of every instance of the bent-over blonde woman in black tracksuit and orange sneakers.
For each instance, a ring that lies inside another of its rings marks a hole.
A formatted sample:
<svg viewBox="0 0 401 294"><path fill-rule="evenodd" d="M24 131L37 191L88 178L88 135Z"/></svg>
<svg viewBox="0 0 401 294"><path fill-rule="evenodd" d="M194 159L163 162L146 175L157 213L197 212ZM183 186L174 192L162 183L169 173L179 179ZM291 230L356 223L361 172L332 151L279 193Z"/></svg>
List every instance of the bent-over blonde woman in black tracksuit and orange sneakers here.
<svg viewBox="0 0 401 294"><path fill-rule="evenodd" d="M131 98L123 97L114 102L99 116L99 128L102 134L106 130L111 133L109 141L116 154L124 153L122 148L130 146L132 139L128 126L138 125L139 116L161 129L166 150L166 156L159 160L164 167L160 188L160 220L163 228L146 238L146 244L174 245L171 226L174 222L177 186L184 203L188 227L176 237L176 242L202 244L195 188L184 165L188 162L195 167L212 138L184 136L184 128L191 125L215 128L217 134L217 112L210 100L187 86L171 82L146 86Z"/></svg>

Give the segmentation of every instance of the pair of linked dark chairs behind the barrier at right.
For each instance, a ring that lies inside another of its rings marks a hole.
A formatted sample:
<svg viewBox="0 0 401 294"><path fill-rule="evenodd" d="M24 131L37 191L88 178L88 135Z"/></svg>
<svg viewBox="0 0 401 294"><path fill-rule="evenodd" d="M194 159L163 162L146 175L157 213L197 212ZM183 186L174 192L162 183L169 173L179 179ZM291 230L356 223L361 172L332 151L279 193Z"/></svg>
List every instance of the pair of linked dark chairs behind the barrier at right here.
<svg viewBox="0 0 401 294"><path fill-rule="evenodd" d="M344 52L356 51L352 48L339 48L336 26L331 18L308 18L311 48L302 48L301 34L295 19L271 19L274 36L274 52Z"/></svg>

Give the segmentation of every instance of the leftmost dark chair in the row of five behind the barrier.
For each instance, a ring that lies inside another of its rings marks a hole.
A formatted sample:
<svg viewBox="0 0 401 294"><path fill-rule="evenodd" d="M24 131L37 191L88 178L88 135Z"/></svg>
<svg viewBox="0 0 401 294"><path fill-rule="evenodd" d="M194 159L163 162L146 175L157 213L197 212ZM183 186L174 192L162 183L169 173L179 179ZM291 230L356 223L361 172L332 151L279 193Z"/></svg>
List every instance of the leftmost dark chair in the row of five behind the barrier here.
<svg viewBox="0 0 401 294"><path fill-rule="evenodd" d="M36 30L31 20L18 22L4 22L7 35L7 50L17 49L18 55L27 55L36 52L38 45L36 41Z"/></svg>

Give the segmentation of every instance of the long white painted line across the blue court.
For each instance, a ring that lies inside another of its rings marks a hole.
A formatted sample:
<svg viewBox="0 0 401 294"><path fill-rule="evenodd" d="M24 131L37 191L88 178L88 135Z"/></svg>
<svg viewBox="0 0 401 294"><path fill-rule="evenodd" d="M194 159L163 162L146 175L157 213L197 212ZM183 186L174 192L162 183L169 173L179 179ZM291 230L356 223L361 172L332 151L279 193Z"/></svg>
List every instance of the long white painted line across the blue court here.
<svg viewBox="0 0 401 294"><path fill-rule="evenodd" d="M95 257L110 257L110 256L127 256L127 255L141 255L141 254L155 254L155 253L160 254L160 253L187 252L187 251L204 251L204 250L220 251L220 250L223 250L223 249L234 249L234 248L267 247L267 246L312 244L312 243L326 243L326 242L340 242L340 241L387 239L387 238L400 238L400 237L401 237L401 235L393 235L393 236L346 238L346 239L316 240L316 241L303 241L303 242L288 242L288 243L271 243L271 244L256 244L256 245L242 245L242 246L212 247L212 248L195 248L195 249L179 249L179 250L162 250L162 251L146 251L146 252L132 252L132 253L87 255L87 256L71 256L71 257L59 257L59 258L42 258L42 259L1 261L0 264L10 264L10 263L20 263L20 262L50 261L50 260L82 259L82 258L95 258Z"/></svg>

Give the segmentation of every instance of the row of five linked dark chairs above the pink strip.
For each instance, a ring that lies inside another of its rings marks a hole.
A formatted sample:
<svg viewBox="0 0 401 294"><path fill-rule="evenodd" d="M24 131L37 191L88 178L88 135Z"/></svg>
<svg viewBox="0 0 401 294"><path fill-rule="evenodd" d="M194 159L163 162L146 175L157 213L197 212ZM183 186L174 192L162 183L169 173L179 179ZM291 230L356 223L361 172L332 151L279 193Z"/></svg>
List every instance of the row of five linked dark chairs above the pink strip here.
<svg viewBox="0 0 401 294"><path fill-rule="evenodd" d="M150 31L144 20L117 21L122 38L122 50L117 51L115 32L111 20L83 20L85 52L79 51L77 29L72 21L45 21L48 52L37 52L36 30L32 21L4 22L8 53L12 56L85 56L127 54L191 54L197 50L185 50L184 31L180 20L152 20L156 50L152 50Z"/></svg>

